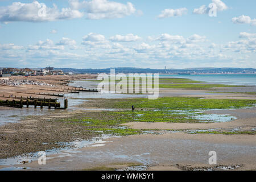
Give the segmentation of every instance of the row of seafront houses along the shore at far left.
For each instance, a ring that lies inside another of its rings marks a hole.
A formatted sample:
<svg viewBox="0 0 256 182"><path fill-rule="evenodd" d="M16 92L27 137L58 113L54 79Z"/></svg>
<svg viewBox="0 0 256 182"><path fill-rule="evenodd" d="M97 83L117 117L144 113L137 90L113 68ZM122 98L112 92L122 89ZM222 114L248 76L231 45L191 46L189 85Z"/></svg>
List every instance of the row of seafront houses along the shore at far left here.
<svg viewBox="0 0 256 182"><path fill-rule="evenodd" d="M64 75L62 70L54 70L53 67L47 68L1 68L0 77L10 77L16 75Z"/></svg>

